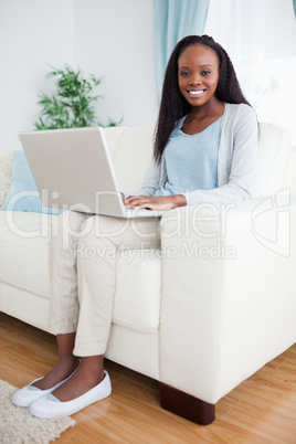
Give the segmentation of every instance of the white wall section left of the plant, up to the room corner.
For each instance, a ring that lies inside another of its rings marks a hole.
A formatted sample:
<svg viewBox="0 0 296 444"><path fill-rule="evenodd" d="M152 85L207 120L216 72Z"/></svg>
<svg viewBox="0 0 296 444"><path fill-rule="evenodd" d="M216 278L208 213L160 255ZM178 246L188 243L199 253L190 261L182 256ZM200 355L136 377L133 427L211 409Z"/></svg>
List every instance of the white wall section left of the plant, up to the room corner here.
<svg viewBox="0 0 296 444"><path fill-rule="evenodd" d="M46 65L74 61L73 0L0 0L0 155L34 129Z"/></svg>

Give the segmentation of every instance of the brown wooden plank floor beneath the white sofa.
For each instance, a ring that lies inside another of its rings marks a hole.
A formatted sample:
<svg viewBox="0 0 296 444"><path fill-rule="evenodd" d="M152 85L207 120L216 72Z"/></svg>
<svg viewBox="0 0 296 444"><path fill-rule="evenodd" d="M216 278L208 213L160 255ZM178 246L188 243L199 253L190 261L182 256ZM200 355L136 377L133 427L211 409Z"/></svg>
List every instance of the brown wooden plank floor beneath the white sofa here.
<svg viewBox="0 0 296 444"><path fill-rule="evenodd" d="M55 339L0 313L0 379L22 387L56 361ZM216 404L216 420L199 426L159 406L158 383L106 361L113 394L74 414L59 443L296 444L296 345Z"/></svg>

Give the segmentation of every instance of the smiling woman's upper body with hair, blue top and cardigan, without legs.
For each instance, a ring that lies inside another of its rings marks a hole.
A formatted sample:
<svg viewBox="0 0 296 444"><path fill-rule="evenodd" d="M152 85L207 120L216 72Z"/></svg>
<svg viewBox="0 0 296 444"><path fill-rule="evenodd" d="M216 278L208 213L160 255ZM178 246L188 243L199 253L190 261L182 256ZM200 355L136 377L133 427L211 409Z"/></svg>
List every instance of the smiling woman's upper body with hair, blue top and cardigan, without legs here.
<svg viewBox="0 0 296 444"><path fill-rule="evenodd" d="M155 144L159 171L146 187L168 200L183 195L186 204L247 199L256 134L255 113L225 50L208 35L189 35L166 71Z"/></svg>

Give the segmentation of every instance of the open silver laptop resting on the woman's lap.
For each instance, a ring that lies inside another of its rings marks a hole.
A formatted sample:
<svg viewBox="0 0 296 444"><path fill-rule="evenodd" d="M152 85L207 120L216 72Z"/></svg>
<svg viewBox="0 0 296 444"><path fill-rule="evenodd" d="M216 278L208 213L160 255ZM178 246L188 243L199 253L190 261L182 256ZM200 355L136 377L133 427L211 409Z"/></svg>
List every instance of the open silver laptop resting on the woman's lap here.
<svg viewBox="0 0 296 444"><path fill-rule="evenodd" d="M19 138L44 207L117 218L165 213L125 208L103 128L20 133Z"/></svg>

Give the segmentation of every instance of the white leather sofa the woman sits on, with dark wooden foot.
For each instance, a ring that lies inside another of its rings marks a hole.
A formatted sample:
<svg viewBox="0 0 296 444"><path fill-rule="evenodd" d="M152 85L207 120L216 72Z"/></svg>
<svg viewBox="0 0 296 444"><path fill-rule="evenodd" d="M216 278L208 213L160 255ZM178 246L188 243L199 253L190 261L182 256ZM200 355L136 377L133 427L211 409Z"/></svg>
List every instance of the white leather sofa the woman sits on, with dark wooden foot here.
<svg viewBox="0 0 296 444"><path fill-rule="evenodd" d="M121 189L140 188L152 133L105 130ZM197 423L296 340L294 157L287 131L261 124L254 199L169 211L161 251L118 256L107 358L159 380L161 405ZM0 310L46 331L51 218L0 211Z"/></svg>

